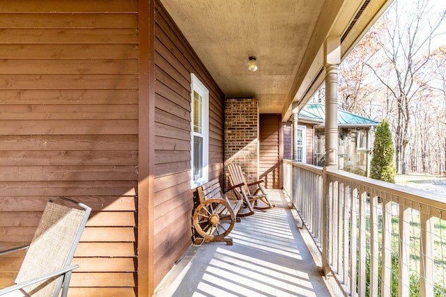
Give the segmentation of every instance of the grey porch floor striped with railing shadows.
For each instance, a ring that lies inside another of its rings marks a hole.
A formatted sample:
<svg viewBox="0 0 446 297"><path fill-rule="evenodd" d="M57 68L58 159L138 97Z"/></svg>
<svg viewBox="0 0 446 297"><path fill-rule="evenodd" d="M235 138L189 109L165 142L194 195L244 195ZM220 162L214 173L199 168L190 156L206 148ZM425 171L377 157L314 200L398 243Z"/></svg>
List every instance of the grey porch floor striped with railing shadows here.
<svg viewBox="0 0 446 297"><path fill-rule="evenodd" d="M236 223L233 246L192 246L155 296L333 296L284 194L268 190L268 196L275 209Z"/></svg>

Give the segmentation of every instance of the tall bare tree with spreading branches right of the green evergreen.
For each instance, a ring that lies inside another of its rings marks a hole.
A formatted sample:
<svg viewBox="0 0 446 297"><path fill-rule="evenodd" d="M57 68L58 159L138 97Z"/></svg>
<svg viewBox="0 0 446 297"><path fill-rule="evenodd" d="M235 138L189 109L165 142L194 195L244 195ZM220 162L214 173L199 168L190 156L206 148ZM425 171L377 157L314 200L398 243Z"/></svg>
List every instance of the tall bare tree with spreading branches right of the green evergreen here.
<svg viewBox="0 0 446 297"><path fill-rule="evenodd" d="M422 75L431 57L431 42L438 34L445 12L433 13L429 1L417 0L414 10L408 10L408 1L395 1L370 35L380 46L380 57L365 64L385 86L389 99L397 109L395 122L395 154L398 172L406 172L406 148L410 141L412 102L428 87L429 77ZM425 74L425 73L424 73ZM388 102L391 106L391 102Z"/></svg>

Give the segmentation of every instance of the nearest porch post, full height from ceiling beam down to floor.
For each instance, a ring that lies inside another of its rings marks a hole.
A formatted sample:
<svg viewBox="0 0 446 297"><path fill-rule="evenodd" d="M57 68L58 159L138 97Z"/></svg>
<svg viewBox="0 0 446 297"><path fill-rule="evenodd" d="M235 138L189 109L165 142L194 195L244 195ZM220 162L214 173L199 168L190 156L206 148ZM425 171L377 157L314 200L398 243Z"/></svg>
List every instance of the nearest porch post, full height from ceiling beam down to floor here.
<svg viewBox="0 0 446 297"><path fill-rule="evenodd" d="M330 275L330 250L328 225L331 223L332 209L332 183L328 182L330 173L328 168L337 168L337 86L338 65L341 63L341 38L328 37L323 47L323 62L325 67L325 167L323 169L323 195L322 195L322 268L326 277ZM331 202L331 203L330 203ZM332 232L330 230L330 232Z"/></svg>

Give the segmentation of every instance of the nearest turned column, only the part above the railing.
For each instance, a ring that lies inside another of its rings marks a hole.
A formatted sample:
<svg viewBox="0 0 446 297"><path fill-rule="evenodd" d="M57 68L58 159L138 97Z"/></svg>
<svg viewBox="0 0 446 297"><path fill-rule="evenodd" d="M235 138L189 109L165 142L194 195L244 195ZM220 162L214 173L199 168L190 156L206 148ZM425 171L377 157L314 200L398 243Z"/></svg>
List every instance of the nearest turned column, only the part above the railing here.
<svg viewBox="0 0 446 297"><path fill-rule="evenodd" d="M325 166L337 165L337 87L341 63L341 38L328 37L324 44L325 67Z"/></svg>

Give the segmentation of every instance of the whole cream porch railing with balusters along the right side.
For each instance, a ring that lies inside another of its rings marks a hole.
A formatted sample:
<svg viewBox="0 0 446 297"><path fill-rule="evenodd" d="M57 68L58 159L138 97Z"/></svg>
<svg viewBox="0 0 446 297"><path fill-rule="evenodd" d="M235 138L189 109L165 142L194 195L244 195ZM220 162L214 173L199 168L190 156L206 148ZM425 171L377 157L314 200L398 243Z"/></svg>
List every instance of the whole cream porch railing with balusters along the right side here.
<svg viewBox="0 0 446 297"><path fill-rule="evenodd" d="M446 296L446 197L284 161L284 190L346 296Z"/></svg>

